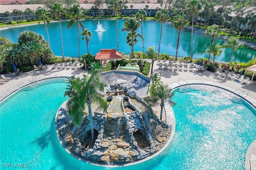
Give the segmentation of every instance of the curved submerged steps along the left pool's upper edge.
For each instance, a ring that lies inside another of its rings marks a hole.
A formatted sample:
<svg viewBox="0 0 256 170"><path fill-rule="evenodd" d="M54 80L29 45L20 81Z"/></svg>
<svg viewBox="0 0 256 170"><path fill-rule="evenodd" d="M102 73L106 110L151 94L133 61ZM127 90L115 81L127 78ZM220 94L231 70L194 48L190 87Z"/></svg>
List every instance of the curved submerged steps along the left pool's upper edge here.
<svg viewBox="0 0 256 170"><path fill-rule="evenodd" d="M42 86L44 84L50 84L50 83L56 83L56 82L66 82L66 78L64 77L56 77L56 78L49 78L49 79L44 79L42 81L38 81L38 82L33 82L31 84L29 84L24 90L33 90L39 86Z"/></svg>

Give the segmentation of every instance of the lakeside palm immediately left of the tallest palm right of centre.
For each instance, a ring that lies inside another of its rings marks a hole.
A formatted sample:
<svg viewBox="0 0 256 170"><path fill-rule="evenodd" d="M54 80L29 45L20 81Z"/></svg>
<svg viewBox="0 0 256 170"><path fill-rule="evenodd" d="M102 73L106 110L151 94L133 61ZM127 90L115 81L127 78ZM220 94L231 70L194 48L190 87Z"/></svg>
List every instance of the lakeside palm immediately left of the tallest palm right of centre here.
<svg viewBox="0 0 256 170"><path fill-rule="evenodd" d="M178 14L178 16L175 16L173 18L174 20L174 28L178 30L178 38L177 38L177 46L176 46L176 56L175 59L178 59L178 48L179 48L179 43L180 43L180 31L184 28L184 26L187 23L187 19L186 19L186 15L183 14L183 12L180 12L180 14Z"/></svg>

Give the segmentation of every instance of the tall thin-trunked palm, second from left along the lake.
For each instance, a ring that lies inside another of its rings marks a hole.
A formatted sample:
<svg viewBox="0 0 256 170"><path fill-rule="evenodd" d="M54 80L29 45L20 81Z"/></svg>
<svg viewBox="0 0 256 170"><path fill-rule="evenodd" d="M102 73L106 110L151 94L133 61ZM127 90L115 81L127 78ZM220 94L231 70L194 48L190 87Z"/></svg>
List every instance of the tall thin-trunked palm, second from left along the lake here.
<svg viewBox="0 0 256 170"><path fill-rule="evenodd" d="M58 20L59 20L59 24L60 24L60 41L61 41L61 49L62 49L62 61L64 62L65 58L64 58L64 47L63 47L63 40L62 40L62 28L61 28L61 16L62 14L64 14L64 8L62 7L62 4L55 2L53 4L53 6L51 7L51 12L52 14L56 15Z"/></svg>

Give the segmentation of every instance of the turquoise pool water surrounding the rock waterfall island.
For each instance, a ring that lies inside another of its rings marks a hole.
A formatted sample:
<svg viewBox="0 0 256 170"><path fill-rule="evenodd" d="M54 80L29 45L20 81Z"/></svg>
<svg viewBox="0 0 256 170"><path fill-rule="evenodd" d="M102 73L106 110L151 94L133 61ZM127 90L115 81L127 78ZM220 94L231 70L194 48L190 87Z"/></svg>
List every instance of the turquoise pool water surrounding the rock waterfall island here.
<svg viewBox="0 0 256 170"><path fill-rule="evenodd" d="M202 90L175 90L176 133L151 160L122 168L76 160L60 145L54 126L56 111L67 99L66 87L59 82L20 90L0 104L1 167L23 163L31 170L245 169L246 150L256 138L255 109Z"/></svg>

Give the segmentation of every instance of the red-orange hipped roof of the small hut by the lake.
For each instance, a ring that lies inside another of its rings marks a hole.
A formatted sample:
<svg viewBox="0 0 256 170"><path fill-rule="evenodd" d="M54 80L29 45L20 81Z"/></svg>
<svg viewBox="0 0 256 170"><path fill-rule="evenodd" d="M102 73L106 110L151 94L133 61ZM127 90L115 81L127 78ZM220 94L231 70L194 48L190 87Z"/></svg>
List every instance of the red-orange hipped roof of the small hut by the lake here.
<svg viewBox="0 0 256 170"><path fill-rule="evenodd" d="M122 59L121 52L116 51L116 49L100 49L95 56L95 60L112 60L112 59Z"/></svg>

